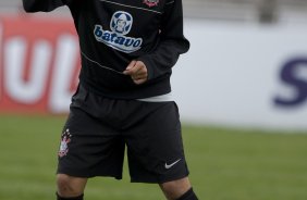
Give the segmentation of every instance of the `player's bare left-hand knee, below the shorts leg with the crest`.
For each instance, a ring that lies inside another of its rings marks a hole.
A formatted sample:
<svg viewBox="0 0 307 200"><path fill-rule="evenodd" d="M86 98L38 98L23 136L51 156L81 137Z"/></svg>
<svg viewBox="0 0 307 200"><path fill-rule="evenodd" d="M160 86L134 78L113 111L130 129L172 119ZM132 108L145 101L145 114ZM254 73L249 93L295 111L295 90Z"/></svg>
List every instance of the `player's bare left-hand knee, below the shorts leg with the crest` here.
<svg viewBox="0 0 307 200"><path fill-rule="evenodd" d="M83 195L85 178L72 177L65 174L57 175L58 193L61 197L77 197Z"/></svg>

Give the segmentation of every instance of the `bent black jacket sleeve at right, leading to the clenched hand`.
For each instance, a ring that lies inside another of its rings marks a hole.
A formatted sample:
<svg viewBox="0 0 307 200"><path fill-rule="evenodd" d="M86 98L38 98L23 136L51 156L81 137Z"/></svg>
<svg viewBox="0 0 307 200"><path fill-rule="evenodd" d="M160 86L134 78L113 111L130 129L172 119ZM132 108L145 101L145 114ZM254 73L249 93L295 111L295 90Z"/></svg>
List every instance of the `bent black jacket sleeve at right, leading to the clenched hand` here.
<svg viewBox="0 0 307 200"><path fill-rule="evenodd" d="M168 4L163 15L160 41L157 48L140 58L148 68L148 79L171 73L180 54L189 49L189 42L183 35L182 1L175 0Z"/></svg>

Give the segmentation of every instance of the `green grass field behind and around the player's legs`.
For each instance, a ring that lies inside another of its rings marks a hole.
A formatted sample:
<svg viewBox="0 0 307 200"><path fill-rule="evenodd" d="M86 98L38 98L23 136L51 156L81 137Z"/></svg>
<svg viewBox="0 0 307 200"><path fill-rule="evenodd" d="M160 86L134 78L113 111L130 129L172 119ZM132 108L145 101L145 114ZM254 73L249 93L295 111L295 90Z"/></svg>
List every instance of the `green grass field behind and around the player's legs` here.
<svg viewBox="0 0 307 200"><path fill-rule="evenodd" d="M54 199L63 116L0 115L0 200ZM183 125L200 200L306 200L307 130L274 133ZM162 200L157 185L90 179L87 200Z"/></svg>

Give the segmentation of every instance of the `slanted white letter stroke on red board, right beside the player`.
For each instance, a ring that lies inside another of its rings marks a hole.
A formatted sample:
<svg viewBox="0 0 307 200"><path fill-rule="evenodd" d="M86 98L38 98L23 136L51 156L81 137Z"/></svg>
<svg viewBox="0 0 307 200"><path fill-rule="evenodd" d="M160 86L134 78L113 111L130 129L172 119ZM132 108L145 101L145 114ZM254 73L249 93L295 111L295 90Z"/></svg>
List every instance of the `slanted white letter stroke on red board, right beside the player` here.
<svg viewBox="0 0 307 200"><path fill-rule="evenodd" d="M53 113L63 113L69 111L73 95L70 91L70 86L74 78L73 72L78 57L78 43L75 37L71 35L61 36L58 40L56 53L49 107Z"/></svg>

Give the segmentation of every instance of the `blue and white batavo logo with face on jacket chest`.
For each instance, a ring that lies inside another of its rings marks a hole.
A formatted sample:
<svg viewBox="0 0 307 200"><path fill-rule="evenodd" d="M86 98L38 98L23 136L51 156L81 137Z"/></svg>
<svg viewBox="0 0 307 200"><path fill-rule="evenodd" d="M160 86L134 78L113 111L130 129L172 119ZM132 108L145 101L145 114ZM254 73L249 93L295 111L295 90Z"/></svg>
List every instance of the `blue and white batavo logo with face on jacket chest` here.
<svg viewBox="0 0 307 200"><path fill-rule="evenodd" d="M143 39L135 37L127 37L133 26L133 17L130 13L118 11L112 15L110 22L110 30L106 27L96 24L94 35L97 41L116 49L119 51L131 53L140 49Z"/></svg>

